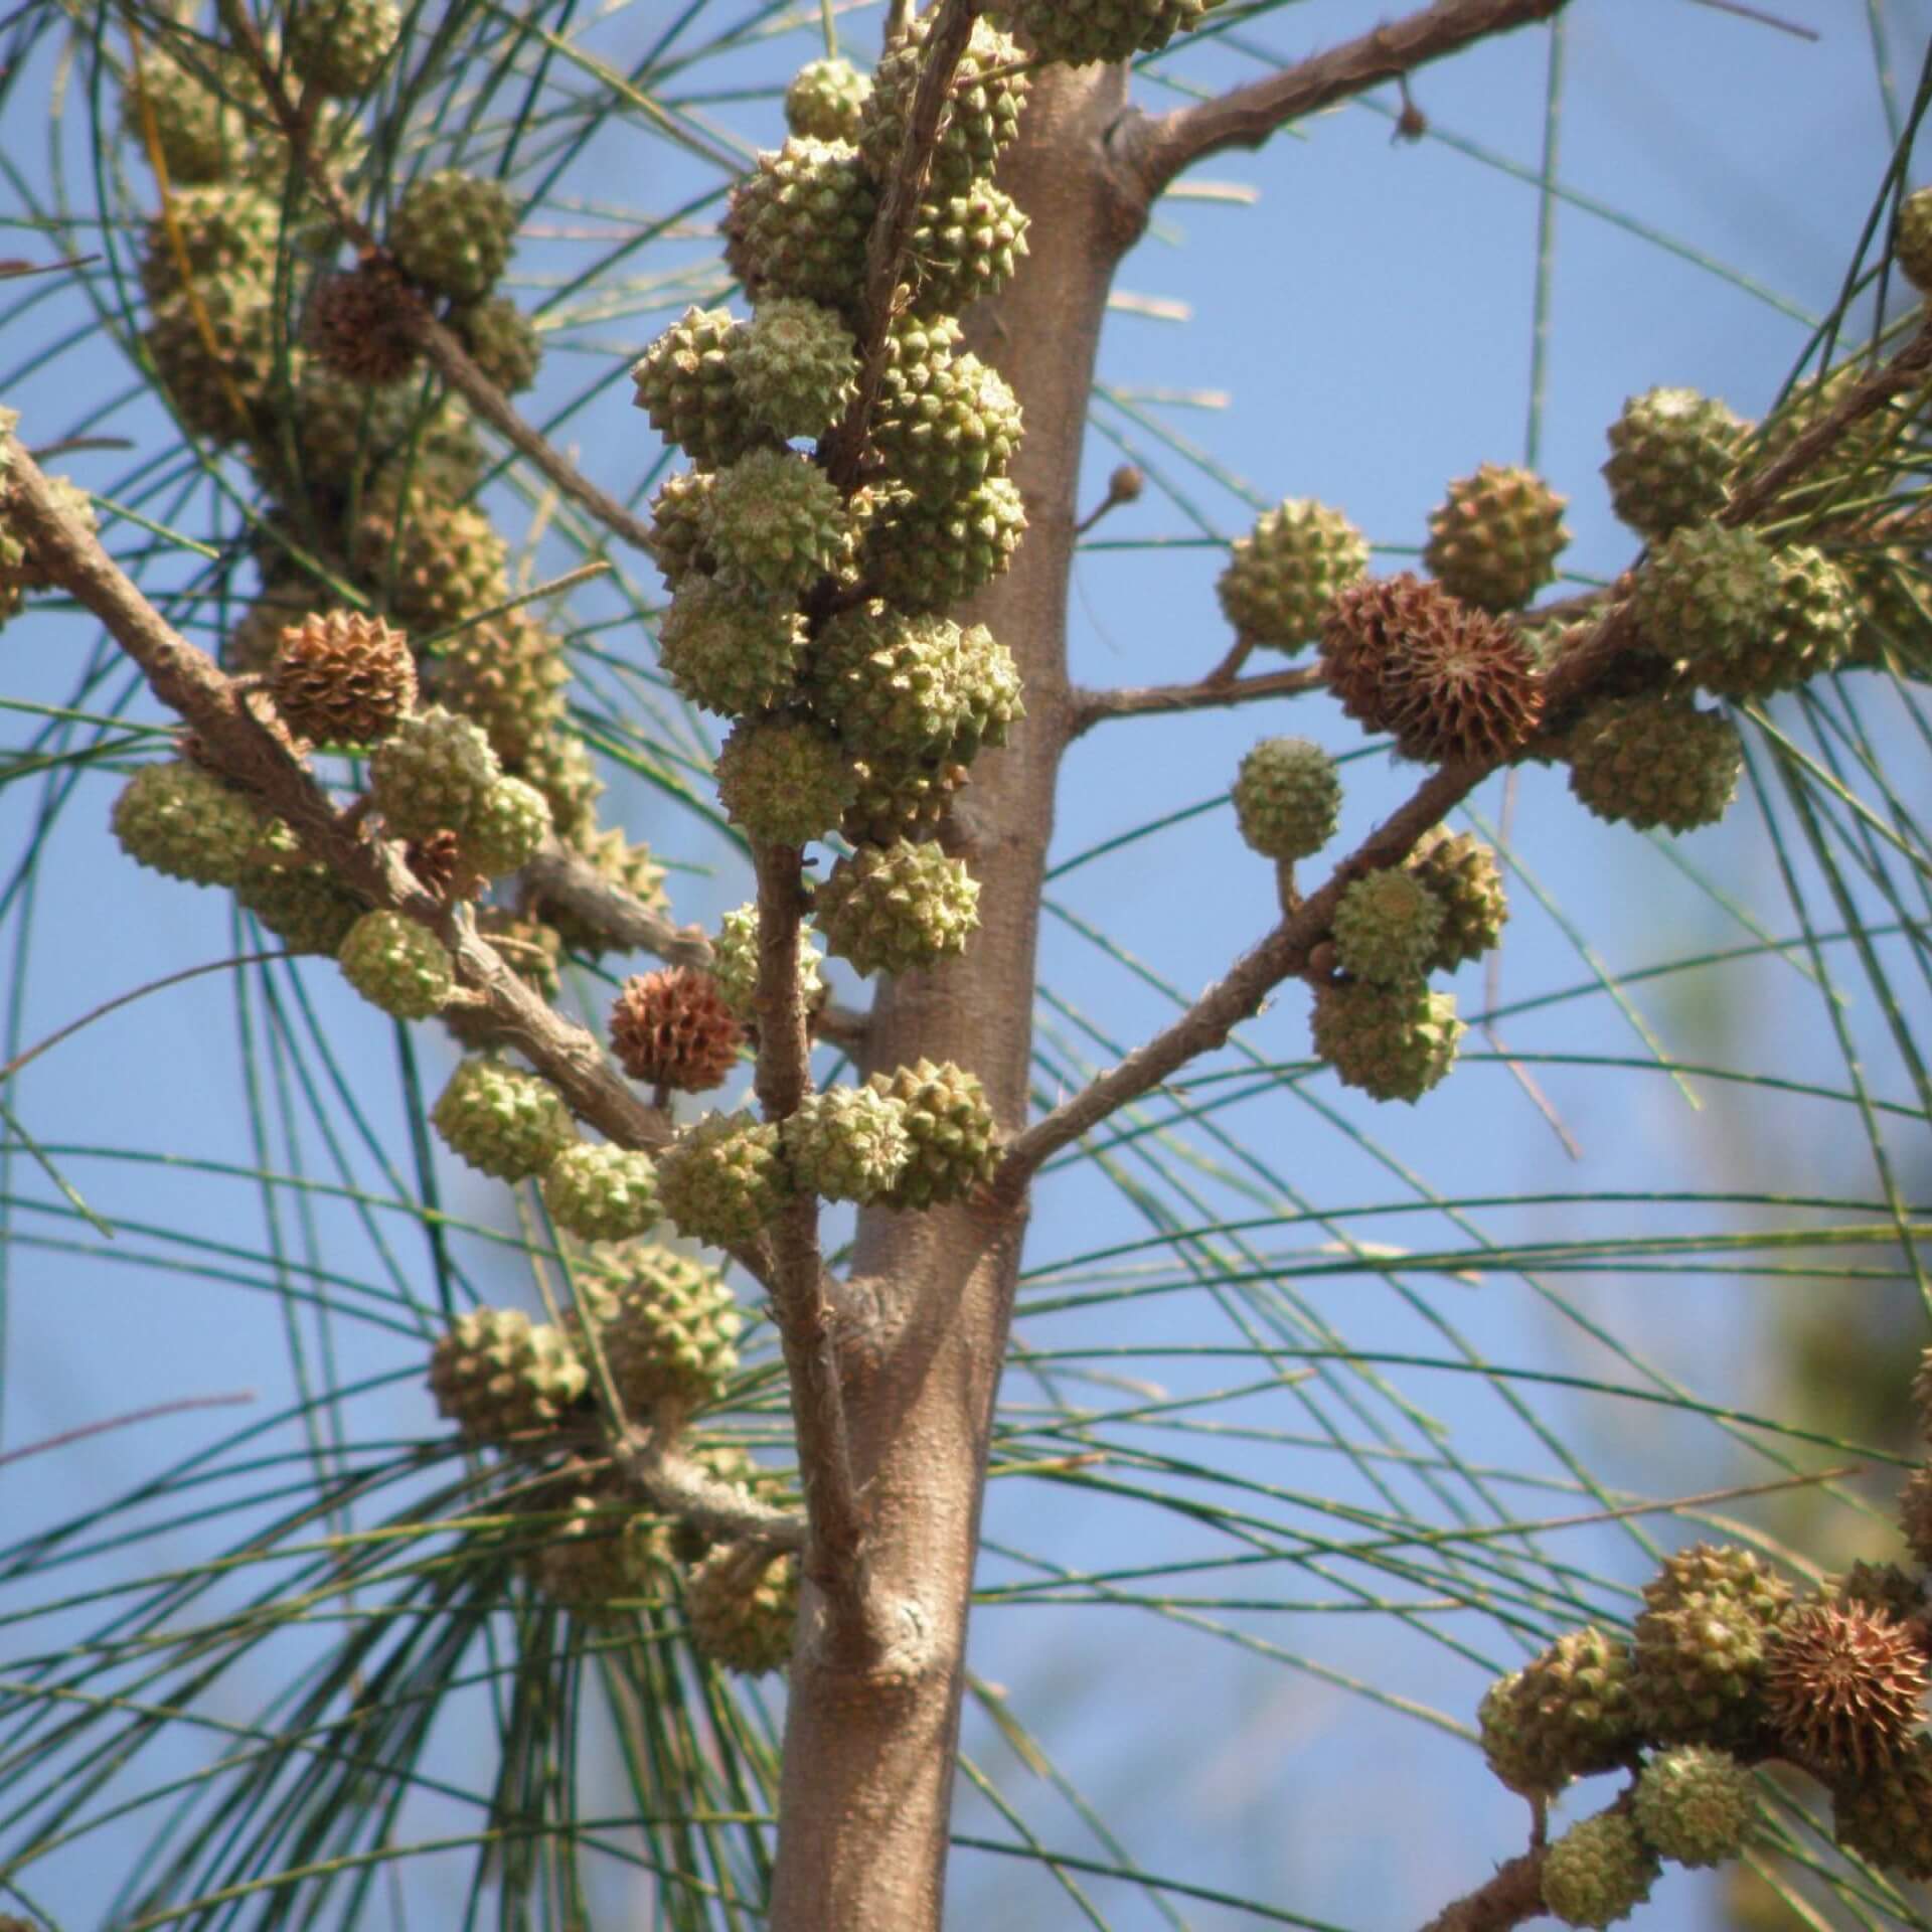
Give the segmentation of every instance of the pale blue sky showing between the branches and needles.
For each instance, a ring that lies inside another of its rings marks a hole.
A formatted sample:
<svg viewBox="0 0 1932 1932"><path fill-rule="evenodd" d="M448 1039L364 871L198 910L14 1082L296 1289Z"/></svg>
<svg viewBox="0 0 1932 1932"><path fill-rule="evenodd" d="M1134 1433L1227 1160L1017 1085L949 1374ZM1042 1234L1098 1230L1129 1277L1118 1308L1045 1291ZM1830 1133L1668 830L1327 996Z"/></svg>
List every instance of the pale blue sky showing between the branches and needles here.
<svg viewBox="0 0 1932 1932"><path fill-rule="evenodd" d="M1105 686L1206 672L1229 641L1213 599L1219 545L1238 535L1256 508L1283 497L1341 506L1378 547L1378 568L1393 570L1426 539L1428 510L1447 479L1480 462L1534 458L1571 498L1571 587L1629 564L1634 545L1613 522L1598 475L1604 427L1625 396L1660 383L1719 394L1747 415L1774 400L1806 350L1812 323L1835 301L1884 182L1893 133L1880 56L1889 56L1889 102L1903 108L1932 25L1932 6L1920 0L1874 0L1870 8L1776 0L1776 8L1806 31L1779 31L1694 0L1575 0L1565 15L1555 120L1561 195L1549 209L1536 189L1551 126L1546 31L1513 35L1422 75L1414 93L1430 133L1418 143L1391 141L1395 100L1378 95L1304 124L1260 155L1217 156L1188 178L1186 193L1161 207L1124 263L1101 352L1082 500L1099 498L1122 456L1142 464L1153 487L1136 506L1109 516L1076 562L1074 676ZM726 6L719 17L730 12ZM618 66L634 62L668 14L643 0L603 21L595 44ZM815 10L800 10L808 14ZM1283 6L1190 50L1173 73L1190 87L1250 79L1260 71L1258 56L1294 58L1360 33L1376 17L1378 10L1354 0ZM869 52L877 19L875 8L842 14L848 44ZM707 68L701 79L694 73L690 85L765 89L761 99L707 112L752 143L775 143L779 112L769 89L810 58L813 31L771 35ZM52 83L48 52L41 58ZM1177 93L1159 75L1146 75L1138 97L1161 106ZM48 180L35 158L46 137L35 116L44 116L46 99L44 87L15 89L0 128L15 180L37 189ZM83 120L70 114L54 139L71 160L85 139ZM124 160L133 166L131 156ZM612 232L614 193L670 209L715 180L663 145L626 149L607 133L582 174L531 216L512 292L537 301L568 276L582 263L585 234ZM1211 184L1242 193L1208 195ZM137 176L133 193L145 191ZM1542 406L1532 412L1544 214L1553 222L1542 267L1548 330ZM643 417L628 408L622 365L692 294L686 270L711 247L705 218L692 224L688 240L628 265L643 280L607 315L556 332L529 412L537 419L545 410L568 412L558 437L593 477L618 491L657 460ZM4 253L27 253L29 242L14 234ZM0 315L0 398L23 412L29 440L66 433L128 383L128 367L104 334L39 359L70 328L85 327L71 298L29 288ZM582 400L589 392L591 400ZM137 439L162 435L145 404L114 412L112 427ZM1198 448L1202 462L1180 444ZM106 491L131 462L100 454L71 468ZM174 512L151 506L149 514ZM182 527L197 527L191 510L184 510ZM116 549L137 541L120 526ZM547 541L539 578L570 560ZM655 589L649 568L638 582ZM605 611L616 614L620 605L593 587L572 609L587 622ZM597 641L649 661L649 639L638 626L601 632ZM15 618L0 639L0 688L23 703L70 703L89 647L87 628L71 616ZM585 674L601 672L585 665ZM114 709L126 697L122 684L118 672L106 678L87 707ZM155 717L145 697L129 709ZM1901 713L1888 711L1884 699L1874 709L1882 736L1903 736ZM17 717L15 742L31 728L33 719ZM1173 1012L1150 980L1192 995L1271 922L1269 867L1236 838L1225 792L1240 753L1273 732L1304 732L1337 752L1360 748L1354 728L1316 696L1233 715L1117 723L1070 755L1055 835L1061 875L1049 887L1041 949L1049 989L1043 1045L1051 1055L1043 1080L1066 1065L1059 1041L1080 1022L1119 1043L1144 1037ZM31 920L23 920L19 900L8 908L12 1022L23 1043L133 983L234 951L222 895L133 871L114 850L104 829L114 784L108 773L83 775L50 833L52 864L39 871ZM1379 752L1354 757L1333 850L1350 848L1410 784L1412 775L1389 767ZM0 792L15 850L41 804L33 784ZM1681 840L1675 854L1586 817L1569 800L1561 769L1526 767L1513 802L1505 806L1503 784L1492 782L1472 806L1476 823L1488 827L1505 810L1513 813L1519 869L1499 966L1505 1003L1588 987L1594 968L1584 945L1607 968L1631 972L1737 945L1748 939L1752 918L1779 935L1793 929L1748 802L1723 827ZM1177 823L1088 858L1128 827L1167 817ZM711 923L748 896L728 844L696 810L668 798L665 784L614 781L607 819L688 867L672 879L680 918ZM1692 871L1721 885L1739 910L1727 914ZM23 927L31 937L15 945ZM1105 933L1105 947L1094 941L1095 931ZM1148 978L1128 962L1144 966ZM350 1101L406 1177L408 1111L392 1034L334 983L325 962L305 964L301 985L340 1057L344 1094L330 1101L334 1119L354 1165L381 1192L379 1161L355 1148ZM1466 1014L1480 1010L1484 968L1464 968L1457 991ZM1868 1051L1872 1086L1907 1101L1909 1088L1884 1049L1882 1014L1861 993L1849 989L1847 1024ZM1662 978L1633 997L1644 1022L1687 1059L1843 1086L1818 991L1789 962ZM259 1022L257 1010L249 1024ZM433 1094L454 1049L427 1028L417 1032L421 1082ZM1623 1070L1536 1066L1580 1157L1565 1151L1507 1068L1482 1057L1472 1034L1468 1065L1414 1109L1374 1109L1327 1076L1260 1084L1264 1092L1215 1124L1262 1165L1238 1173L1227 1148L1200 1134L1190 1140L1202 1159L1204 1200L1221 1213L1246 1202L1244 1211L1264 1215L1296 1198L1378 1208L1424 1188L1459 1198L1619 1192L1685 1186L1687 1177L1723 1186L1727 1175L1764 1192L1872 1194L1870 1159L1845 1105L1799 1094L1770 1101L1760 1088L1702 1080L1694 1084L1700 1105L1692 1107L1665 1074L1644 1065L1646 1047L1602 993L1511 1016L1507 1037L1528 1055L1631 1059ZM1092 1037L1074 1043L1105 1057ZM1285 989L1242 1030L1240 1045L1264 1065L1302 1061L1306 995ZM1215 1063L1231 1065L1236 1059ZM232 983L209 976L100 1020L8 1090L17 1119L120 1229L114 1242L97 1240L62 1211L44 1177L14 1155L8 1196L21 1240L6 1277L8 1445L170 1397L249 1389L251 1418L292 1401L288 1323L305 1318L292 1318L272 1293L222 1279L209 1248L197 1260L174 1240L187 1231L232 1244L228 1273L259 1275L249 1258L265 1242L263 1192L245 1175L263 1161L282 1165L286 1150L251 1144L234 1103L242 1066ZM1905 1126L1895 1146L1907 1171L1917 1161L1922 1180L1922 1122L1918 1136ZM102 1148L203 1165L102 1157ZM313 1136L307 1151L327 1165ZM1022 1294L1016 1339L1030 1349L1132 1343L1146 1356L1124 1374L1157 1379L1171 1395L1200 1393L1231 1372L1163 1354L1233 1339L1200 1293L1148 1296L1097 1316L1036 1312L1055 1293L1057 1264L1150 1231L1150 1209L1134 1194L1134 1159L1128 1150L1117 1179L1086 1165L1041 1186L1028 1246L1034 1281ZM500 1188L440 1153L439 1171L452 1213L510 1225ZM346 1294L381 1283L390 1262L406 1275L421 1267L421 1236L406 1217L379 1217L390 1242L384 1260L354 1215L327 1202L313 1211ZM1561 1238L1582 1229L1708 1225L1708 1213L1503 1206L1478 1221L1495 1238ZM1405 1246L1451 1238L1445 1223L1428 1215L1381 1213L1349 1225L1364 1238ZM299 1248L303 1233L288 1198L276 1204L276 1229ZM1300 1229L1287 1246L1306 1258L1320 1238ZM466 1236L458 1246L485 1291L493 1279L508 1281L493 1260L500 1248ZM1279 1252L1283 1236L1269 1235L1262 1246ZM1408 1296L1362 1273L1310 1279L1302 1293L1321 1321L1368 1350L1449 1354L1441 1331L1449 1323L1495 1362L1596 1374L1609 1360L1551 1298L1515 1275L1405 1279ZM1745 1408L1776 1387L1762 1347L1766 1308L1781 1293L1808 1293L1803 1281L1669 1271L1621 1279L1578 1273L1557 1289L1580 1314L1683 1374L1700 1397ZM386 1437L431 1430L417 1379L423 1345L404 1327L344 1323L334 1333L340 1376L381 1378L346 1410L352 1432ZM311 1335L309 1366L321 1374L313 1350ZM1254 1364L1236 1368L1246 1378ZM1522 1422L1478 1378L1408 1368L1399 1381L1470 1461L1553 1472ZM1101 1393L1095 1389L1095 1399ZM1034 1401L1037 1389L1014 1374L1009 1395ZM1548 1393L1536 1401L1613 1486L1671 1495L1766 1474L1762 1463L1727 1451L1710 1426L1662 1408ZM1215 1416L1223 1426L1277 1432L1221 1443L1215 1453L1231 1466L1285 1492L1372 1501L1358 1470L1314 1443L1296 1451L1279 1439L1310 1428L1291 1389L1227 1405ZM71 1517L230 1426L230 1416L178 1416L21 1463L8 1470L10 1519L25 1534ZM1584 1505L1536 1497L1520 1507L1563 1515ZM985 1563L989 1586L1037 1575L1020 1553L1101 1569L1179 1559L1211 1542L1179 1515L1026 1480L993 1484L987 1538L997 1546ZM160 1563L170 1549L164 1540L137 1557ZM1569 1544L1563 1549L1571 1553ZM1642 1578L1642 1555L1623 1532L1578 1532L1575 1561L1625 1584ZM8 1607L21 1617L43 1611L33 1590L31 1578L14 1584ZM1310 1573L1260 1571L1254 1596L1275 1607L1229 1611L1223 1621L1240 1642L1215 1642L1182 1619L1126 1607L1041 1605L1022 1613L995 1602L978 1613L972 1662L1005 1689L1150 1870L1252 1891L1337 1924L1416 1924L1520 1849L1522 1806L1482 1776L1470 1745L1445 1725L1418 1721L1349 1685L1372 1683L1387 1698L1466 1725L1490 1671L1517 1656L1499 1646L1493 1623L1468 1623L1468 1654L1457 1656L1385 1617L1335 1609L1339 1594L1333 1580ZM1287 1607L1306 1602L1327 1607ZM21 1642L41 1648L48 1631L66 1627L60 1617L31 1615ZM1310 1662L1314 1669L1302 1667ZM222 1696L247 1716L249 1698L267 1690L251 1681ZM158 1776L155 1768L170 1762L191 1764L199 1748L176 1741L145 1760L143 1776ZM1028 1806L1049 1843L1095 1855L1078 1820L1016 1768L976 1714L968 1748ZM1586 1808L1602 1795L1586 1789L1580 1799ZM962 1801L958 1822L970 1833L1001 1835L989 1808L972 1797ZM131 1835L102 1833L56 1855L35 1868L35 1897L71 1924L93 1922L106 1880L133 1843ZM1712 1922L1716 1886L1673 1872L1646 1922ZM1122 1888L1095 1895L1122 1928L1161 1922ZM1254 1922L1211 1905L1180 1909L1204 1932ZM970 1851L956 1859L960 1924L1059 1926L1076 1922L1070 1913L1065 1895L1030 1864Z"/></svg>

